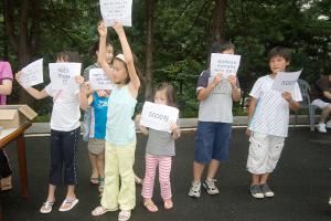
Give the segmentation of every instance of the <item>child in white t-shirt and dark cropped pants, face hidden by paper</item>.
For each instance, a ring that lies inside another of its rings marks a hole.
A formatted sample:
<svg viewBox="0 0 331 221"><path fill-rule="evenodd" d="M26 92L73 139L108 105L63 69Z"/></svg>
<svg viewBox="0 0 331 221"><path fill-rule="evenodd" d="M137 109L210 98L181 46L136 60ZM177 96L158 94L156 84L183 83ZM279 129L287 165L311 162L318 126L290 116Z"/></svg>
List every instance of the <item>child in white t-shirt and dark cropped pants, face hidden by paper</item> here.
<svg viewBox="0 0 331 221"><path fill-rule="evenodd" d="M57 55L60 62L77 62L78 53L62 52ZM15 78L21 84L20 71ZM77 185L77 166L76 151L79 137L79 106L82 109L87 108L86 88L82 86L83 76L75 77L76 83L81 84L81 90L74 92L71 88L54 90L50 83L44 90L38 91L33 87L25 88L26 92L36 99L47 96L53 97L53 110L51 117L51 169L49 179L49 194L46 201L40 209L41 213L50 213L55 202L55 189L62 183L67 186L66 197L60 207L60 211L68 211L73 209L78 199L75 194L75 186ZM63 168L64 167L64 168ZM63 170L64 169L64 175Z"/></svg>

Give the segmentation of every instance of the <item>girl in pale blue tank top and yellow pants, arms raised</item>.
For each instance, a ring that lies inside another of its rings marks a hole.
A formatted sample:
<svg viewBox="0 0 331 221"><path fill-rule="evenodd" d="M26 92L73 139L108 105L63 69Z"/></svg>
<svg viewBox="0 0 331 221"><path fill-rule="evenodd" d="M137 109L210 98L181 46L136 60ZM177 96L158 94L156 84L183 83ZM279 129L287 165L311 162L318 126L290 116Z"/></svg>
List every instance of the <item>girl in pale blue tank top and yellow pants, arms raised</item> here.
<svg viewBox="0 0 331 221"><path fill-rule="evenodd" d="M106 61L107 28L104 23L98 27L100 34L99 64L114 82L108 103L105 150L105 188L102 206L93 210L93 215L100 215L108 211L121 210L119 221L130 219L131 210L136 206L136 187L134 161L136 150L136 128L131 119L137 104L140 81L134 63L130 45L124 28L116 22L116 31L124 54L118 54L113 62L113 69Z"/></svg>

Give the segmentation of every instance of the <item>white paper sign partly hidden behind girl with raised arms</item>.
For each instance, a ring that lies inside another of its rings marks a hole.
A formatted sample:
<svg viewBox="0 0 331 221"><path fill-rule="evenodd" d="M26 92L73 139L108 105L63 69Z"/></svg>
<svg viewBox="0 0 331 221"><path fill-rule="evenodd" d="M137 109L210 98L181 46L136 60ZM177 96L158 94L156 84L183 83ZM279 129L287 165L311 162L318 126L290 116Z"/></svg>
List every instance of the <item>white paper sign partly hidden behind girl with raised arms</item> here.
<svg viewBox="0 0 331 221"><path fill-rule="evenodd" d="M114 84L103 69L92 69L89 70L89 87L94 91L113 90Z"/></svg>

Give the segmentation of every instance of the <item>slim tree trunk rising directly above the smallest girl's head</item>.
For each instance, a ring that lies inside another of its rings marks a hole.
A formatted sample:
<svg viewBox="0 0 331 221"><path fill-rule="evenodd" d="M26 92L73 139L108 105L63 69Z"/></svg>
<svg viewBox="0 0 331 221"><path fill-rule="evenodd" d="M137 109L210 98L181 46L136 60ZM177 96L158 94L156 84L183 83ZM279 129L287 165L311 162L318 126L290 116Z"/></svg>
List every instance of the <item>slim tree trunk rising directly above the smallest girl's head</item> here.
<svg viewBox="0 0 331 221"><path fill-rule="evenodd" d="M147 14L147 42L146 42L146 74L145 74L145 98L152 98L152 81L153 81L153 13L154 0L146 0Z"/></svg>

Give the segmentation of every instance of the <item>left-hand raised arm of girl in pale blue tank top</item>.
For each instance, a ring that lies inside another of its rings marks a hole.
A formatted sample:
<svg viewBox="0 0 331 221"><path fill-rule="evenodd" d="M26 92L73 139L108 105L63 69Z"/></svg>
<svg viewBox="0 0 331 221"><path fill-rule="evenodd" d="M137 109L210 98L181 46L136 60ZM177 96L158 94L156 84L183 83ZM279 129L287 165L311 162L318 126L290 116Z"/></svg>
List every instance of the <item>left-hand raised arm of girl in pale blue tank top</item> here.
<svg viewBox="0 0 331 221"><path fill-rule="evenodd" d="M98 32L100 35L98 63L102 65L104 72L107 74L107 76L110 78L110 81L114 82L111 69L110 69L109 64L107 63L107 59L106 59L107 27L105 25L104 22L102 22L98 25Z"/></svg>

